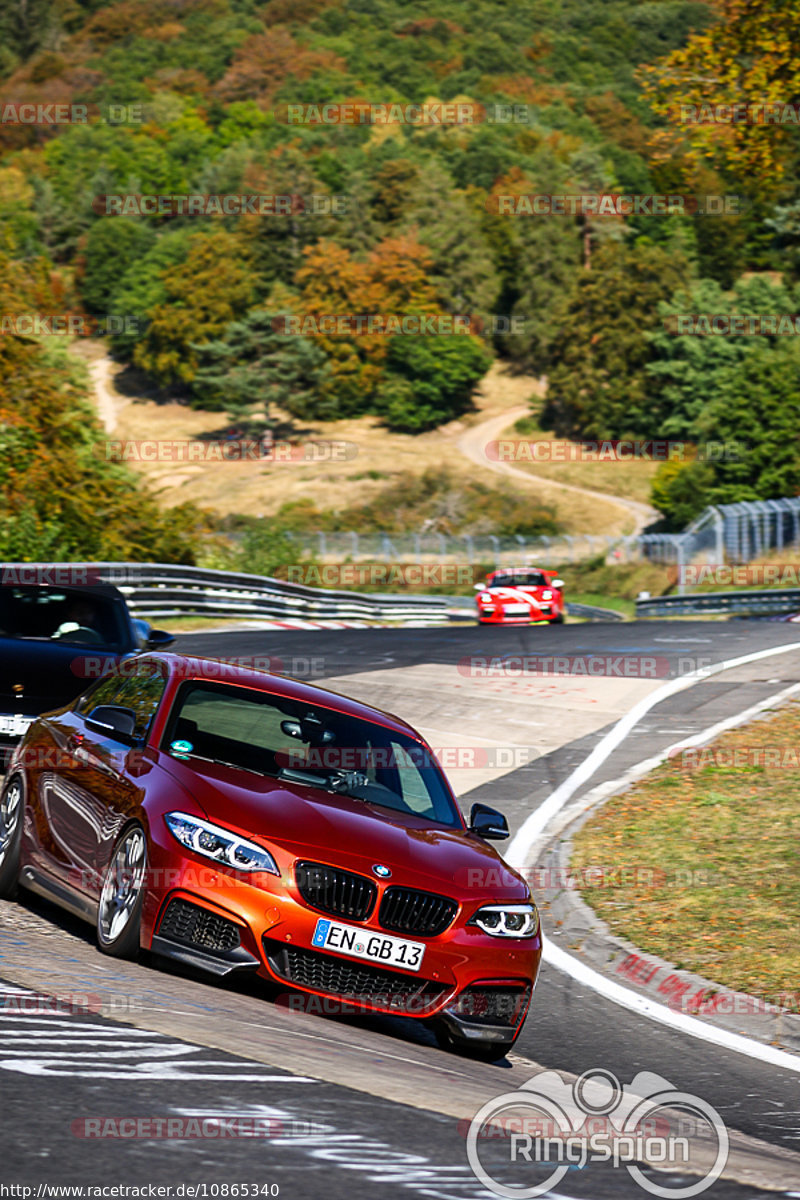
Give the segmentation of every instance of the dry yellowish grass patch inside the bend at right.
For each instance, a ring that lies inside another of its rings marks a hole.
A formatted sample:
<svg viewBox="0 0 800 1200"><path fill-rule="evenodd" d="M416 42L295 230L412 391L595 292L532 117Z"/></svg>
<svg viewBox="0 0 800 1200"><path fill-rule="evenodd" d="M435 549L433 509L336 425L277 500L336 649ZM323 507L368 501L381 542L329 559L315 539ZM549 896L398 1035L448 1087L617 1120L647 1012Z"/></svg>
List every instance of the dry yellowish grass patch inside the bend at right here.
<svg viewBox="0 0 800 1200"><path fill-rule="evenodd" d="M759 749L772 761L780 750L781 764L759 766ZM736 750L753 764L729 766ZM796 997L800 703L692 754L584 824L572 866L606 875L583 899L615 934L679 967L766 1001Z"/></svg>

